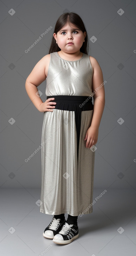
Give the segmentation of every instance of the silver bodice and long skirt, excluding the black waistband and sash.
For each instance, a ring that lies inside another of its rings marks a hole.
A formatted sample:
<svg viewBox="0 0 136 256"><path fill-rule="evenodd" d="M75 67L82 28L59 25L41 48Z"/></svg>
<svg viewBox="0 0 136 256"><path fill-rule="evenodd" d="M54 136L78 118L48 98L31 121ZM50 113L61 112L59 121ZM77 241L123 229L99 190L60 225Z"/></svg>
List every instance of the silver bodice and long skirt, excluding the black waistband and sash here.
<svg viewBox="0 0 136 256"><path fill-rule="evenodd" d="M79 60L68 61L58 52L50 53L46 96L91 95L92 98L92 77L88 54L83 53ZM93 109L81 112L78 158L75 112L53 109L53 112L44 112L43 117L40 212L71 216L91 213L95 151L86 148L87 140L84 139L91 125Z"/></svg>

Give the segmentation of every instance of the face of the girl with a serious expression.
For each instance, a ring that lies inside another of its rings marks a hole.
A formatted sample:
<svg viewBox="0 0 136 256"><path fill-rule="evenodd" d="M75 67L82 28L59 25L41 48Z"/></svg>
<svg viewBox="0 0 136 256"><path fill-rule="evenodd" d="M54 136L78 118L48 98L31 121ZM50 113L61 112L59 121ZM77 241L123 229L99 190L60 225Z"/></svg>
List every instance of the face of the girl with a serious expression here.
<svg viewBox="0 0 136 256"><path fill-rule="evenodd" d="M70 27L71 25L71 27ZM62 51L74 53L80 50L83 42L85 42L86 32L79 30L74 24L66 24L60 31L53 34L57 45ZM76 32L77 31L77 32ZM67 43L72 42L72 45Z"/></svg>

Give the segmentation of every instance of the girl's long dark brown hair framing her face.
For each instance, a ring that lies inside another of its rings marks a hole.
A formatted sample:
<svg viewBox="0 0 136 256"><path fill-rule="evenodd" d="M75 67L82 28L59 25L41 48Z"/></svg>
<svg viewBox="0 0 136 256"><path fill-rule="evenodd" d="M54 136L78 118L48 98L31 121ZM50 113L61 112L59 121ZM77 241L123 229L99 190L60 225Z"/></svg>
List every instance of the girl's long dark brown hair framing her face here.
<svg viewBox="0 0 136 256"><path fill-rule="evenodd" d="M88 54L88 35L87 35L87 31L86 31L85 25L84 25L81 17L77 13L73 12L73 13L64 13L64 14L62 14L56 22L54 33L56 33L56 35L57 35L57 32L60 31L61 28L64 27L67 22L69 24L70 23L74 24L82 32L86 32L85 42L83 42L82 47L80 48L80 52ZM51 40L51 45L50 45L48 54L50 54L52 52L58 52L58 51L61 51L61 49L56 44L56 40L53 36L52 40Z"/></svg>

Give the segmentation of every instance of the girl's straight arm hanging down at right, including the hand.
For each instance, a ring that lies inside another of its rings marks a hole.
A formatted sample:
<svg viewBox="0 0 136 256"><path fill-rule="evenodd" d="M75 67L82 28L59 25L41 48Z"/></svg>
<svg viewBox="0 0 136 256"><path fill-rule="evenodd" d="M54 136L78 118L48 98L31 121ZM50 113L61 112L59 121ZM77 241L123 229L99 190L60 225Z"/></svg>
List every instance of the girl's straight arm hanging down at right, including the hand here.
<svg viewBox="0 0 136 256"><path fill-rule="evenodd" d="M91 148L98 140L98 129L101 122L104 106L105 106L105 91L103 83L103 73L97 60L90 57L91 64L94 70L92 77L92 91L95 92L94 98L94 110L91 125L86 132L84 140L86 141L86 148ZM100 87L101 85L101 87Z"/></svg>

